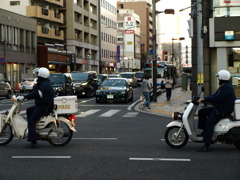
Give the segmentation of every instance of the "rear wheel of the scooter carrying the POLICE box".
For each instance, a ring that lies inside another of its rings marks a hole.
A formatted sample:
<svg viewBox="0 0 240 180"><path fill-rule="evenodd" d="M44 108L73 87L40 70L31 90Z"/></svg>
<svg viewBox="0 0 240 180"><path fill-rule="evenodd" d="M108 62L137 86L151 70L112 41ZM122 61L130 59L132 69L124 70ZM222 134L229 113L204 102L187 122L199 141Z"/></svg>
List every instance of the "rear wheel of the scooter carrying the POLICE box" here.
<svg viewBox="0 0 240 180"><path fill-rule="evenodd" d="M57 131L55 131L54 123L50 123L48 125L49 128L52 128L57 133L57 137L49 138L48 142L53 146L64 146L71 141L73 132L65 122L58 121L57 125L58 125Z"/></svg>

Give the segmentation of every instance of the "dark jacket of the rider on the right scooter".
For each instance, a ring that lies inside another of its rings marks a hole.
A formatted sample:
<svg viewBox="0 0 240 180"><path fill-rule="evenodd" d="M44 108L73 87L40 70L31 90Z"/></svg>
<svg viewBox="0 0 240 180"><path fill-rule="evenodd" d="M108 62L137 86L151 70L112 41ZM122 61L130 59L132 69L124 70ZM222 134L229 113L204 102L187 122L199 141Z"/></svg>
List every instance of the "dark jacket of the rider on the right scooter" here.
<svg viewBox="0 0 240 180"><path fill-rule="evenodd" d="M219 115L228 115L233 112L235 105L235 92L230 82L221 85L215 94L207 96L204 101L212 103Z"/></svg>

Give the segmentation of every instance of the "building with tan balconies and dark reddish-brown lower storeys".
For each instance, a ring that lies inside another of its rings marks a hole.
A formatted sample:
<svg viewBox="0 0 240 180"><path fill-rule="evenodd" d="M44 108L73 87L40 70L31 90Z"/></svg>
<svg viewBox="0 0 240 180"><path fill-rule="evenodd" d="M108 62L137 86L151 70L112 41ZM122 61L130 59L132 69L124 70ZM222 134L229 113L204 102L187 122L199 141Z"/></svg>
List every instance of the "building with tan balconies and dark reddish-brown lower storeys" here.
<svg viewBox="0 0 240 180"><path fill-rule="evenodd" d="M3 9L36 19L37 66L52 72L67 72L68 53L63 53L64 0L25 0L1 2Z"/></svg>

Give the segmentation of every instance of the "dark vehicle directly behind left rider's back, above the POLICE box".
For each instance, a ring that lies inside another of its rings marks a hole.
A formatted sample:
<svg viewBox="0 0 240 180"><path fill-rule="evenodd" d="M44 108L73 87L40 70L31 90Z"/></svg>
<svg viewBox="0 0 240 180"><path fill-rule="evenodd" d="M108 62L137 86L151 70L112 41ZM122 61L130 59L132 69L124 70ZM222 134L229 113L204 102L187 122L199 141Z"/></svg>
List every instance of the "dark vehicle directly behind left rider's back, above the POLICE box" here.
<svg viewBox="0 0 240 180"><path fill-rule="evenodd" d="M62 73L53 73L48 77L57 96L74 94L73 80Z"/></svg>

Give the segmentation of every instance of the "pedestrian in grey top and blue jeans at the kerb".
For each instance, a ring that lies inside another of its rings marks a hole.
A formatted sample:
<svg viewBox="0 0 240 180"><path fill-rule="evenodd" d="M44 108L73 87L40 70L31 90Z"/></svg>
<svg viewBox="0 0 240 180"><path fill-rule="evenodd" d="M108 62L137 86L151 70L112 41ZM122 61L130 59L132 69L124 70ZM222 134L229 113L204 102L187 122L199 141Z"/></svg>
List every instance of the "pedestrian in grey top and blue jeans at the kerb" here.
<svg viewBox="0 0 240 180"><path fill-rule="evenodd" d="M152 90L152 84L149 82L149 76L145 76L142 82L142 95L145 97L146 101L142 104L142 109L150 107L150 92Z"/></svg>

